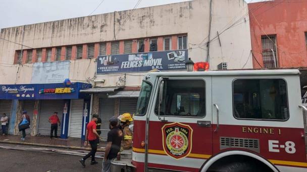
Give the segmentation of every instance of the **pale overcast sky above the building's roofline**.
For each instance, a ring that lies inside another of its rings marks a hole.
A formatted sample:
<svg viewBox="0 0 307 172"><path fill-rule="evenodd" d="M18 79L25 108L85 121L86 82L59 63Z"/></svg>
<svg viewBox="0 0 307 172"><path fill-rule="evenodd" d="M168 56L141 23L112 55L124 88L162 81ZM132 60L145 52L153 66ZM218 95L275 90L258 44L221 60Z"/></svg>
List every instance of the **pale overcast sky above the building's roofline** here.
<svg viewBox="0 0 307 172"><path fill-rule="evenodd" d="M104 1L99 7L98 5ZM187 0L143 0L137 8ZM231 0L237 1L237 0ZM264 0L244 0L258 2ZM133 9L138 0L0 0L0 28Z"/></svg>

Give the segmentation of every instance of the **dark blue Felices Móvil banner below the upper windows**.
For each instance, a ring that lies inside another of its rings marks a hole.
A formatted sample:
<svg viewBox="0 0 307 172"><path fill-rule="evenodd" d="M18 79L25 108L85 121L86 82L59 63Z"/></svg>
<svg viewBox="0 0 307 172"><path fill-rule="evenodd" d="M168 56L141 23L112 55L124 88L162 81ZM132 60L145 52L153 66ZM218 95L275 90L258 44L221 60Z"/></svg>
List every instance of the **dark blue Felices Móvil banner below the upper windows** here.
<svg viewBox="0 0 307 172"><path fill-rule="evenodd" d="M187 50L156 51L97 57L97 74L185 69Z"/></svg>

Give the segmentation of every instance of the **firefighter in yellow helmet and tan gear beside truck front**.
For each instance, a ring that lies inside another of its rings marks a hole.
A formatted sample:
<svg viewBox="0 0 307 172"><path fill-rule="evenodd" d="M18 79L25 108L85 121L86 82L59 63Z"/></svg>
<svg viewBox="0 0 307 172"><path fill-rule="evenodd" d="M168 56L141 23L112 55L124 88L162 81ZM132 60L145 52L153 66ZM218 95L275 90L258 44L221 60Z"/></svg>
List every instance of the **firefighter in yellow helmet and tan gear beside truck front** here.
<svg viewBox="0 0 307 172"><path fill-rule="evenodd" d="M123 140L121 144L121 150L130 149L132 147L132 131L129 129L130 123L133 118L130 113L124 113L118 117L121 121L121 129L123 130Z"/></svg>

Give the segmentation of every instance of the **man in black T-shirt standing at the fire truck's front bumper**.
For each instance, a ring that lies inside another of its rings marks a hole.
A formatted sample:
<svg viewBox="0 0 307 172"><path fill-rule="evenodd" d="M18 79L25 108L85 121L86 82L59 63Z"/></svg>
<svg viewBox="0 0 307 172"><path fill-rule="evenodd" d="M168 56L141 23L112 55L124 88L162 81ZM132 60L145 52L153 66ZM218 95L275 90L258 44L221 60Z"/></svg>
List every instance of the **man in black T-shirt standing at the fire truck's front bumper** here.
<svg viewBox="0 0 307 172"><path fill-rule="evenodd" d="M111 172L112 160L114 160L116 157L120 158L121 142L123 138L123 132L118 128L118 119L116 117L112 117L109 122L111 131L108 133L108 143L103 160L103 172Z"/></svg>

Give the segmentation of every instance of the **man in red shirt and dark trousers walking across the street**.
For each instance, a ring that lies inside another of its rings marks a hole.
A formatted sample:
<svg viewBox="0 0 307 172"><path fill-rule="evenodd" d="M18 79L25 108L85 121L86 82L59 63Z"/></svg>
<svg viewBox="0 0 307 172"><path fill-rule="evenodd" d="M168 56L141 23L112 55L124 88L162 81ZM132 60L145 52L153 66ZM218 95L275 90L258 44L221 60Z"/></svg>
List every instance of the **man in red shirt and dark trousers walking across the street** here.
<svg viewBox="0 0 307 172"><path fill-rule="evenodd" d="M98 163L97 161L95 161L95 153L97 151L97 143L99 138L99 134L96 131L97 120L98 120L97 115L93 115L91 122L89 122L86 127L84 146L87 145L88 141L91 150L87 155L85 155L82 159L79 160L79 162L83 165L83 167L85 167L85 160L90 156L91 156L91 162L90 162L91 165Z"/></svg>

